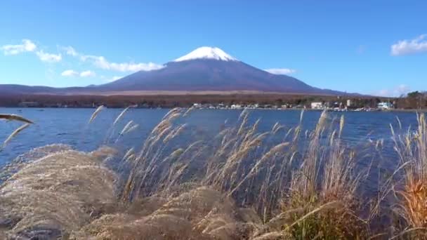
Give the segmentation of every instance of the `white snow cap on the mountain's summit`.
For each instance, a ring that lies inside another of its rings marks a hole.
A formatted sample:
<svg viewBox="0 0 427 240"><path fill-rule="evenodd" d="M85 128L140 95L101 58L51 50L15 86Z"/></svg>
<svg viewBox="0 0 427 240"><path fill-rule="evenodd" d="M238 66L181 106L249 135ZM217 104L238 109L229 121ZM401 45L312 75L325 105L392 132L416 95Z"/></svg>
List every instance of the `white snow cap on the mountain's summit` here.
<svg viewBox="0 0 427 240"><path fill-rule="evenodd" d="M209 46L203 46L197 48L195 51L184 55L173 62L182 62L187 60L195 59L214 59L214 60L223 60L223 61L238 61L236 58L233 58L231 55L228 55L220 48L214 48Z"/></svg>

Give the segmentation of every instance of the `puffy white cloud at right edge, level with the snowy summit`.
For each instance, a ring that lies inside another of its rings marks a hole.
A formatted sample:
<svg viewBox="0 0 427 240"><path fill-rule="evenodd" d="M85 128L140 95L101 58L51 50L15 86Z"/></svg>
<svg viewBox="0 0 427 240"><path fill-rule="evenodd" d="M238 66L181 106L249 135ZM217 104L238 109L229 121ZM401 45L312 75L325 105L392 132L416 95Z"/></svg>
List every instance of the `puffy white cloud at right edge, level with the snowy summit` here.
<svg viewBox="0 0 427 240"><path fill-rule="evenodd" d="M427 34L422 34L416 39L398 41L391 46L391 55L408 55L427 52Z"/></svg>

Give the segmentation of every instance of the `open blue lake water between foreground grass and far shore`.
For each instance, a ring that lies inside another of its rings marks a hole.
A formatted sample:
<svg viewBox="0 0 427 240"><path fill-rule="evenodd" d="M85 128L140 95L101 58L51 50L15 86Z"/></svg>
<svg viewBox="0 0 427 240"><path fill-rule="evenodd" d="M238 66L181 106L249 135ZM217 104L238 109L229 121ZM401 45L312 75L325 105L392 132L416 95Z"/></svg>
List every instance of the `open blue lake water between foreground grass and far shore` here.
<svg viewBox="0 0 427 240"><path fill-rule="evenodd" d="M34 147L53 143L63 143L72 147L91 151L107 140L114 119L122 109L105 109L98 114L95 121L88 125L88 119L94 109L36 109L36 108L0 108L0 113L19 114L34 121L34 125L22 131L0 152L0 166L11 161ZM117 131L127 122L133 120L139 128L117 142L122 149L140 147L148 133L162 119L169 109L129 109L117 126ZM287 128L298 125L301 111L298 110L250 110L250 122L261 119L259 131L268 131L279 122ZM197 135L205 135L206 139L218 133L221 126L235 123L242 110L211 110L200 109L191 112L185 121ZM321 112L306 111L303 116L303 128L313 129ZM393 159L393 145L390 141L390 124L398 129L397 117L402 122L403 129L416 126L416 114L411 112L331 112L331 118L345 115L346 124L343 130L343 140L348 145L363 145L365 142L384 140L384 159ZM20 123L0 121L0 142L3 142ZM115 138L115 137L114 137ZM113 142L114 142L113 138ZM391 160L390 160L391 161ZM384 164L394 167L393 164Z"/></svg>

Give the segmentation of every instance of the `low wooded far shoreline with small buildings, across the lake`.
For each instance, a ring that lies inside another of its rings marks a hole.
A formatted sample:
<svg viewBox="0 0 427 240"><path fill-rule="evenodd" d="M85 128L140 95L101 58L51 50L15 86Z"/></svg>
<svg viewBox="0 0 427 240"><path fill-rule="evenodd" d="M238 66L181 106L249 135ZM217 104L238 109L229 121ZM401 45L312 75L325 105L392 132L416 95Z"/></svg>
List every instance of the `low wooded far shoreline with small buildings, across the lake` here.
<svg viewBox="0 0 427 240"><path fill-rule="evenodd" d="M380 102L388 102L391 109L422 111L427 109L426 93L413 92L399 98L381 98L368 95L298 95L279 93L230 93L230 94L168 94L168 95L0 95L0 107L87 107L104 105L124 108L192 107L195 103L209 106L259 105L265 108L310 109L313 102L324 107L350 109L376 109Z"/></svg>

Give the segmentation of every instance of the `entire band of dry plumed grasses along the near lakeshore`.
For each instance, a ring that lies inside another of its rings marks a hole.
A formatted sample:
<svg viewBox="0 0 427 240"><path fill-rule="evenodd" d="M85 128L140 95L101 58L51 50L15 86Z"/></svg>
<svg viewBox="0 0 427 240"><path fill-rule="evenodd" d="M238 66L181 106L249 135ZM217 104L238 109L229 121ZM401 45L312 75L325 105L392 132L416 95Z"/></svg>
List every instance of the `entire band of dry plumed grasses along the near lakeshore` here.
<svg viewBox="0 0 427 240"><path fill-rule="evenodd" d="M117 129L127 110L93 152L48 145L3 168L0 239L427 239L424 114L414 132L399 119L400 129L390 128L398 164L374 175L369 195L374 160L388 160L383 141L348 147L344 116L322 112L304 131L301 111L298 126L259 132L244 109L237 124L204 139L185 124L196 109L174 108L140 149L119 151L114 142L138 127Z"/></svg>

